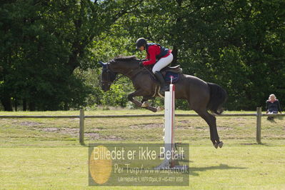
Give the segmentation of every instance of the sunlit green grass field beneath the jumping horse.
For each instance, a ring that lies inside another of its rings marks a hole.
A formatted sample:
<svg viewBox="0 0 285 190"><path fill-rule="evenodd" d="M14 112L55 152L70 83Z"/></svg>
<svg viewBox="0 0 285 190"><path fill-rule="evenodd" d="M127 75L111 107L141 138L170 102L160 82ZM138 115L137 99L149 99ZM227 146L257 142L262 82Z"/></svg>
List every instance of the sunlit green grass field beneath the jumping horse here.
<svg viewBox="0 0 285 190"><path fill-rule="evenodd" d="M79 115L79 111L0 114ZM99 110L85 114L150 112ZM214 149L209 140L209 126L200 117L176 117L176 142L190 145L190 185L164 186L164 189L285 189L284 120L267 121L262 117L263 144L256 144L255 117L217 117L217 124L224 141L222 149ZM86 119L85 126L86 144L162 143L161 117ZM0 119L0 179L0 189L94 189L88 186L88 147L79 145L79 119ZM111 187L146 188L161 189Z"/></svg>

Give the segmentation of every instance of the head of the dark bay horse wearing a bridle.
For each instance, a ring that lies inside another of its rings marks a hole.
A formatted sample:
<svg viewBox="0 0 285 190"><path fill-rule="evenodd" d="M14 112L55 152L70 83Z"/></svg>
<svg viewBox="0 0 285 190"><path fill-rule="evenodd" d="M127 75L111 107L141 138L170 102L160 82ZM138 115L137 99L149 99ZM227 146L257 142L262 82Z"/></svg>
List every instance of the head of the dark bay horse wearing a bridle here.
<svg viewBox="0 0 285 190"><path fill-rule="evenodd" d="M109 68L109 63L99 61L102 66L101 88L103 91L109 91L112 82L116 79L116 73Z"/></svg>

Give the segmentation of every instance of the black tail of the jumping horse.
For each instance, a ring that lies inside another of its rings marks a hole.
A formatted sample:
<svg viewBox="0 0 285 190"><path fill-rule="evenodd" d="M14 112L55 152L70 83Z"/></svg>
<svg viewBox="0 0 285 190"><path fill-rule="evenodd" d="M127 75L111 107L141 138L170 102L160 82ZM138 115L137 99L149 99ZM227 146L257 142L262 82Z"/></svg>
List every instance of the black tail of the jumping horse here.
<svg viewBox="0 0 285 190"><path fill-rule="evenodd" d="M221 106L226 102L228 95L221 86L213 83L207 84L210 89L210 101L207 105L207 109L219 115L224 111Z"/></svg>

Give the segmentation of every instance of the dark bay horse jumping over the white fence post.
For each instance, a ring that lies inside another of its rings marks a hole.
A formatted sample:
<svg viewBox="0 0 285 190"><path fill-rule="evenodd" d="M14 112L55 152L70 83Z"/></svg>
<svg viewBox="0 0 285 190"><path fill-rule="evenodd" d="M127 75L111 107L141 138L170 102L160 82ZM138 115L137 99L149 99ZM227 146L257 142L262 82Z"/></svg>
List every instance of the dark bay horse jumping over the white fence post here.
<svg viewBox="0 0 285 190"><path fill-rule="evenodd" d="M144 101L159 96L159 83L152 79L150 72L145 68L140 68L139 59L136 56L125 56L115 58L104 64L101 74L101 88L104 91L110 89L111 83L116 79L116 74L129 77L133 82L134 91L129 94L129 101L141 107ZM136 101L134 96L142 96L142 101ZM226 91L217 84L207 83L201 79L186 74L180 74L179 81L175 84L175 98L186 99L191 109L196 111L203 118L210 128L210 138L215 148L221 148L223 142L219 140L216 129L216 117L209 114L221 114L221 105L226 101ZM156 111L152 106L144 106L151 111Z"/></svg>

